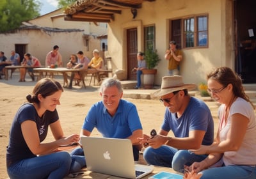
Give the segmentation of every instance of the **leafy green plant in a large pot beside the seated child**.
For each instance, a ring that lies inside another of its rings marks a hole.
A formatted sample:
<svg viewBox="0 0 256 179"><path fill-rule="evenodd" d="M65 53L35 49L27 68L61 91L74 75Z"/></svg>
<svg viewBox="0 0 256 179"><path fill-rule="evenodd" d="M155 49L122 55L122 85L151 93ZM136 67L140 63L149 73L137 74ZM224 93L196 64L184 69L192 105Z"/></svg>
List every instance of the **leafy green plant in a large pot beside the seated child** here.
<svg viewBox="0 0 256 179"><path fill-rule="evenodd" d="M142 70L143 72L143 83L145 89L152 89L154 86L154 75L157 73L155 68L161 59L159 58L157 51L150 48L145 51L145 61L147 69Z"/></svg>

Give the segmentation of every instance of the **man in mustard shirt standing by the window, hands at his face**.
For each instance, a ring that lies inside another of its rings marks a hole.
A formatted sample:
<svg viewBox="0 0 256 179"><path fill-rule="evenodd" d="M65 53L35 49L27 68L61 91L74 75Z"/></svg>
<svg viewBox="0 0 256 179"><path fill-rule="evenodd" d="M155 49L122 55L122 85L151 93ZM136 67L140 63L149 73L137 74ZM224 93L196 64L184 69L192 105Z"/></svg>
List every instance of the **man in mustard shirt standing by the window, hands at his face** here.
<svg viewBox="0 0 256 179"><path fill-rule="evenodd" d="M170 49L168 49L164 58L169 61L168 64L168 75L179 75L179 65L182 60L182 51L176 49L176 42L171 41L169 43Z"/></svg>

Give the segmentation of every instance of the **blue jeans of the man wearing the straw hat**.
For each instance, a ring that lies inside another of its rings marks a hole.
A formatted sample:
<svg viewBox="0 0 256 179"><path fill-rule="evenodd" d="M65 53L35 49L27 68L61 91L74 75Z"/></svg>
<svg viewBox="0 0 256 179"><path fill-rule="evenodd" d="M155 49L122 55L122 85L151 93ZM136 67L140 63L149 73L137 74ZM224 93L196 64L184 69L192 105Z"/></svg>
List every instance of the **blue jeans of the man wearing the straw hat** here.
<svg viewBox="0 0 256 179"><path fill-rule="evenodd" d="M175 171L184 172L184 165L190 166L193 162L204 160L207 155L196 155L188 150L177 150L176 148L163 145L159 148L147 147L143 157L148 164L164 167L172 167Z"/></svg>

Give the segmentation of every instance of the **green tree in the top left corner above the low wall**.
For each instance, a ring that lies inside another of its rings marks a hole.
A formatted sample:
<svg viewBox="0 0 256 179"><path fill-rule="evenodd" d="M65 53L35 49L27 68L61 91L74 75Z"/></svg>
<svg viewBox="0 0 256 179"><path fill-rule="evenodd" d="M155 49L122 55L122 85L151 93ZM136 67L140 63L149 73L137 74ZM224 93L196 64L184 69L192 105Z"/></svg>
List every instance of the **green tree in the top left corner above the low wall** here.
<svg viewBox="0 0 256 179"><path fill-rule="evenodd" d="M1 0L0 33L17 29L21 22L40 15L38 0Z"/></svg>

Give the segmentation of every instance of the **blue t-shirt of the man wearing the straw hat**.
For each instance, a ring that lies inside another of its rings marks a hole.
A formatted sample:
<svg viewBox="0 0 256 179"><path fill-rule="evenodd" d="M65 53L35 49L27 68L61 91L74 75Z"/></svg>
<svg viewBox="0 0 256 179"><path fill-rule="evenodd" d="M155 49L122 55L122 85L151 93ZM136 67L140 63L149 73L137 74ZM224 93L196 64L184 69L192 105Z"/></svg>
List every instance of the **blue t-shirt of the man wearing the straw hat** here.
<svg viewBox="0 0 256 179"><path fill-rule="evenodd" d="M214 123L209 107L194 97L190 98L188 107L177 118L176 113L171 113L166 107L162 129L173 131L175 137L188 137L191 130L204 130L205 135L202 141L204 145L210 145L214 138Z"/></svg>

